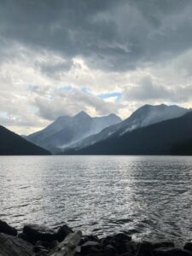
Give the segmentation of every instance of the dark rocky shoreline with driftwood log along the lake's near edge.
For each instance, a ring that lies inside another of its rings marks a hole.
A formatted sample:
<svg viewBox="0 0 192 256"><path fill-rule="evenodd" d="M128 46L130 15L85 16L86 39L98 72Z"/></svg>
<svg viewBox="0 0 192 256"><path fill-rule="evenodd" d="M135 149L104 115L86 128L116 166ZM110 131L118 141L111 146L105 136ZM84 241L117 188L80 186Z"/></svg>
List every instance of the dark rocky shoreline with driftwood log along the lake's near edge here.
<svg viewBox="0 0 192 256"><path fill-rule="evenodd" d="M66 224L57 231L26 224L18 232L0 220L0 256L192 256L192 242L183 248L173 241L132 241L126 233L98 238L73 232Z"/></svg>

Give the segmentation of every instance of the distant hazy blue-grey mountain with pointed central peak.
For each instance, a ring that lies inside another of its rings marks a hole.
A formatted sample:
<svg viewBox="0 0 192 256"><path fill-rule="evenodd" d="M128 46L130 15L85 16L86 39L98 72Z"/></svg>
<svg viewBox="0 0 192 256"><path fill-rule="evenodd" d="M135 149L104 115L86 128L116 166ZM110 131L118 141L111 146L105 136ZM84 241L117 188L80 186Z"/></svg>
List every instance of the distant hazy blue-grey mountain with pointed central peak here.
<svg viewBox="0 0 192 256"><path fill-rule="evenodd" d="M108 116L92 118L82 111L73 117L61 116L44 130L35 132L26 139L55 152L120 121L121 119L113 113Z"/></svg>

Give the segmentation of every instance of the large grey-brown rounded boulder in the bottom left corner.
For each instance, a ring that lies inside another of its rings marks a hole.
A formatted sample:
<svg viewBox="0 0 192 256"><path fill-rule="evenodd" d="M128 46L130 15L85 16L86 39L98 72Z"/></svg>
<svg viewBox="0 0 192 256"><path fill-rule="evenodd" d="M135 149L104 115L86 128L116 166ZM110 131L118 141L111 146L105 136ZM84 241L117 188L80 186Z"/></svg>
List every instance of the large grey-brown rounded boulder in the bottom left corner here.
<svg viewBox="0 0 192 256"><path fill-rule="evenodd" d="M0 255L3 256L32 256L32 244L16 236L0 234Z"/></svg>

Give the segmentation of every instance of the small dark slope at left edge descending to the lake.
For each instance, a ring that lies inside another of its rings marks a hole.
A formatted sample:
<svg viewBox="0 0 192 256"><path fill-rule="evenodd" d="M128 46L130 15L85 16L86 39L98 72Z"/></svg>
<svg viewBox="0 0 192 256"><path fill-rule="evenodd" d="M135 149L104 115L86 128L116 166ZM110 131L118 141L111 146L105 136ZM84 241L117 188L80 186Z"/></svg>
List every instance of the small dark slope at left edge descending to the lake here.
<svg viewBox="0 0 192 256"><path fill-rule="evenodd" d="M0 155L50 154L0 125Z"/></svg>

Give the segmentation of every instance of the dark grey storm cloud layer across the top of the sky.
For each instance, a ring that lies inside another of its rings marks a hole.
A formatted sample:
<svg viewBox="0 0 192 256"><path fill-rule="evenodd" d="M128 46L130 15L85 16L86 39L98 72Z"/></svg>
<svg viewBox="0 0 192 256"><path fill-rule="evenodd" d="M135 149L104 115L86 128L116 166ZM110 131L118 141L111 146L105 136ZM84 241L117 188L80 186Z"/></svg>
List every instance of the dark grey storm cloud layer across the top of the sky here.
<svg viewBox="0 0 192 256"><path fill-rule="evenodd" d="M90 67L125 71L191 47L190 0L2 0L2 48L12 43L51 50L69 64L44 64L55 73L81 56Z"/></svg>

